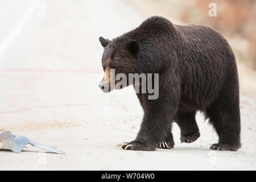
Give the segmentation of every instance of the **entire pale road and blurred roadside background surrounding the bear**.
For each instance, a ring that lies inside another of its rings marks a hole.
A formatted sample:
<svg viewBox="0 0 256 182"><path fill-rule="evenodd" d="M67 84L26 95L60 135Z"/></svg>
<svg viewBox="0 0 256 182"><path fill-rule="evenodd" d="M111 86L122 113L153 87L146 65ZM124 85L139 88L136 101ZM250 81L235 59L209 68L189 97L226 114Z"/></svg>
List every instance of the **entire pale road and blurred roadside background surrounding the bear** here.
<svg viewBox="0 0 256 182"><path fill-rule="evenodd" d="M210 3L216 16L209 16ZM180 144L174 124L175 150L114 150L136 137L143 111L132 87L109 94L98 88L103 75L98 38L115 38L152 15L203 24L228 39L240 77L238 152L210 153L217 135L200 114L203 137L196 142ZM0 0L0 24L0 132L11 130L67 152L46 154L42 165L36 152L0 151L0 169L255 170L256 1Z"/></svg>

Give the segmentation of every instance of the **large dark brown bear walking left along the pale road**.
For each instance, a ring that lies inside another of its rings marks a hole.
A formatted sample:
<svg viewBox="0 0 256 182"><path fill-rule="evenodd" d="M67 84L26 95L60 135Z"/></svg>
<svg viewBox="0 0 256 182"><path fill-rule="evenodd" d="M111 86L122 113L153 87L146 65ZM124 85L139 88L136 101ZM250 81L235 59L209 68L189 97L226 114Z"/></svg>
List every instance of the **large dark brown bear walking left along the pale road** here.
<svg viewBox="0 0 256 182"><path fill-rule="evenodd" d="M148 100L148 92L137 93L144 111L137 138L117 147L143 151L172 148L173 121L180 127L181 142L194 142L200 137L196 111L209 118L218 134L212 150L237 151L241 147L236 59L219 32L152 16L113 40L100 37L100 43L104 47L102 67L109 80L110 69L115 69L115 75L159 74L156 100ZM112 90L108 79L99 85L104 92Z"/></svg>

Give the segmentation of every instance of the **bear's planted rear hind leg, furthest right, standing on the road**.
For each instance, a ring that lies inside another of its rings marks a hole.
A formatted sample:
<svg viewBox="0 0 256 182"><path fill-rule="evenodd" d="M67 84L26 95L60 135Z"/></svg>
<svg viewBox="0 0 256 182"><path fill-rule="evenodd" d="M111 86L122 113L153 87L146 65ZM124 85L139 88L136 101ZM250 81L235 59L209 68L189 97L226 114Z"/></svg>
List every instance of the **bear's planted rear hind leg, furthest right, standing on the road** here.
<svg viewBox="0 0 256 182"><path fill-rule="evenodd" d="M210 149L237 151L241 147L239 97L220 97L206 114L218 134L218 143Z"/></svg>

